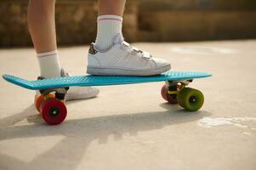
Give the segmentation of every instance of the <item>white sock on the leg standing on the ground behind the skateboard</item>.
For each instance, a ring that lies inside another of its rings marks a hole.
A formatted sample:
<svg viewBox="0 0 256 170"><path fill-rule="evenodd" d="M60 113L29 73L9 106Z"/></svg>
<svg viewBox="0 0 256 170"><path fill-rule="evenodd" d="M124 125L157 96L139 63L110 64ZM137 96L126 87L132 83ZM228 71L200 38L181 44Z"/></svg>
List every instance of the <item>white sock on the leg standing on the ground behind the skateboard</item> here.
<svg viewBox="0 0 256 170"><path fill-rule="evenodd" d="M60 77L60 61L58 51L37 54L41 77Z"/></svg>

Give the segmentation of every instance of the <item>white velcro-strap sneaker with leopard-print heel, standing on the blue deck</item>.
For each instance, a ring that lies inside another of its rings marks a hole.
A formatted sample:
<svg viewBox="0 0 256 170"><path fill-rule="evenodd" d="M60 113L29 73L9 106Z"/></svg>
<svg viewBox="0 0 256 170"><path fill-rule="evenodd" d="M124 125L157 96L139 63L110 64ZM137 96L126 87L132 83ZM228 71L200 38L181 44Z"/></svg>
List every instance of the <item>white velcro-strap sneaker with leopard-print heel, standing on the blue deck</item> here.
<svg viewBox="0 0 256 170"><path fill-rule="evenodd" d="M107 51L100 51L94 43L88 51L87 73L92 75L152 76L170 69L168 61L131 47L121 34Z"/></svg>

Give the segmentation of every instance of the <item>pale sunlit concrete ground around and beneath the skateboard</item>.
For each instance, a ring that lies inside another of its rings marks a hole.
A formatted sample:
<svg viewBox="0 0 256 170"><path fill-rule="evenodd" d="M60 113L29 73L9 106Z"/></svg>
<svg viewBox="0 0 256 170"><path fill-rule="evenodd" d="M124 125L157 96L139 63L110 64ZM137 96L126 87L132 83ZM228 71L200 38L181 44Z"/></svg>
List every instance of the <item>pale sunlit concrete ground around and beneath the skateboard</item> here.
<svg viewBox="0 0 256 170"><path fill-rule="evenodd" d="M211 71L196 80L197 112L168 105L162 82L100 87L94 99L67 103L48 126L33 91L0 79L0 169L256 169L256 41L135 43L174 70ZM60 48L61 64L85 72L88 47ZM0 50L0 73L35 79L32 48Z"/></svg>

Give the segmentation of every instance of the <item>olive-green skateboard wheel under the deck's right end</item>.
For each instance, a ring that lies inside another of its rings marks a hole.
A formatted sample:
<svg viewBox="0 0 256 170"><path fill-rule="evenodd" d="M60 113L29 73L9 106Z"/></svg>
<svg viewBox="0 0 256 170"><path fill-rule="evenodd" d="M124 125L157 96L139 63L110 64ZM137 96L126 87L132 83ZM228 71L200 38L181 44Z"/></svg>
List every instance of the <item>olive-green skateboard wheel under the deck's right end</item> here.
<svg viewBox="0 0 256 170"><path fill-rule="evenodd" d="M194 88L183 88L178 94L178 103L188 111L197 111L203 105L202 92Z"/></svg>

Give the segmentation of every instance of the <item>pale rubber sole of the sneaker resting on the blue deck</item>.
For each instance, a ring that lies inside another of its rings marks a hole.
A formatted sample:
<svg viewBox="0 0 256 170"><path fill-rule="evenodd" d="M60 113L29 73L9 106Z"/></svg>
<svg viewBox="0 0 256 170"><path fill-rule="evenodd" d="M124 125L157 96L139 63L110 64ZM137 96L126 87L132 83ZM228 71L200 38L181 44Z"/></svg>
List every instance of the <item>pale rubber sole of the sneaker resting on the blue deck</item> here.
<svg viewBox="0 0 256 170"><path fill-rule="evenodd" d="M97 68L97 67L87 67L87 73L91 75L98 76L153 76L161 74L162 72L171 69L171 65L166 65L164 67L150 70L150 71L132 71L132 70L122 70L122 69L108 69L108 68Z"/></svg>

